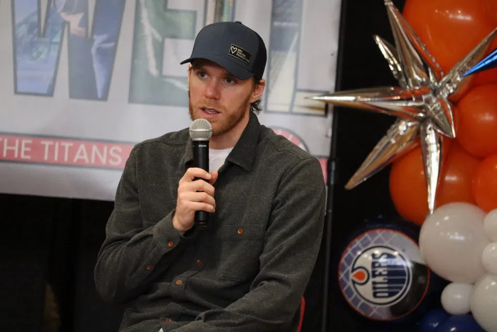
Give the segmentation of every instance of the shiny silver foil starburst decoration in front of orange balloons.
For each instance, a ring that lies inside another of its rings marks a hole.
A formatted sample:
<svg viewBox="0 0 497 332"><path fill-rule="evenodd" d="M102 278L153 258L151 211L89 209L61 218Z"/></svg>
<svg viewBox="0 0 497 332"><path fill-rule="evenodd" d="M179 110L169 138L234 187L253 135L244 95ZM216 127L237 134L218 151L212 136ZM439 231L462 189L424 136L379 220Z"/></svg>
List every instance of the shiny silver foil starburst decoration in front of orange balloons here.
<svg viewBox="0 0 497 332"><path fill-rule="evenodd" d="M447 138L456 136L452 103L466 93L471 76L463 74L483 58L497 28L445 75L392 1L385 0L385 6L395 47L379 36L374 39L399 87L350 90L308 99L397 116L345 188L352 189L366 181L420 144L428 212L432 214L445 157L442 145Z"/></svg>

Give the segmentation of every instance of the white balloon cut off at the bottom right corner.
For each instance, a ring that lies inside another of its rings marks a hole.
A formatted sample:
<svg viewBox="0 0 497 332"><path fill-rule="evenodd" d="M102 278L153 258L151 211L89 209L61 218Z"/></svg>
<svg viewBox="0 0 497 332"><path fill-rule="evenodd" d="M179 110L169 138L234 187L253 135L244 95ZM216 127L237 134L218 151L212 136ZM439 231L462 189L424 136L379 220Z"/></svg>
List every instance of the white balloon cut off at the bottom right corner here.
<svg viewBox="0 0 497 332"><path fill-rule="evenodd" d="M474 286L471 313L487 332L497 332L497 275L487 274Z"/></svg>

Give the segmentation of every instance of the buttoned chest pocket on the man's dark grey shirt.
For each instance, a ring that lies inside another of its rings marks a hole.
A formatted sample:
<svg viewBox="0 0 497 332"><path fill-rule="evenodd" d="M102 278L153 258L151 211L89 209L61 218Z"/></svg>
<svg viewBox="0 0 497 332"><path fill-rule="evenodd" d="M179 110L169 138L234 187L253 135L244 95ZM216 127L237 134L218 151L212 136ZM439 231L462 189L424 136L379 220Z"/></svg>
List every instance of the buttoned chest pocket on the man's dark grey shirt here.
<svg viewBox="0 0 497 332"><path fill-rule="evenodd" d="M259 271L263 225L222 225L218 231L218 272L223 280L247 281Z"/></svg>

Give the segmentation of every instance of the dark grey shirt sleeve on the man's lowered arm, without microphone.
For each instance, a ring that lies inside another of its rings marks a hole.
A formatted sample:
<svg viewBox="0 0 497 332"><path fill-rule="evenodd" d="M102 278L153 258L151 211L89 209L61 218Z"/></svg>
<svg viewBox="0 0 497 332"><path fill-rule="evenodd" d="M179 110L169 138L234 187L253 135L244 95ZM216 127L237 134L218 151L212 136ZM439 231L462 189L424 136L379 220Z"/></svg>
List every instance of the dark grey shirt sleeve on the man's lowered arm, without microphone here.
<svg viewBox="0 0 497 332"><path fill-rule="evenodd" d="M224 309L208 310L174 332L288 331L323 235L326 186L316 158L298 163L280 182L250 291Z"/></svg>

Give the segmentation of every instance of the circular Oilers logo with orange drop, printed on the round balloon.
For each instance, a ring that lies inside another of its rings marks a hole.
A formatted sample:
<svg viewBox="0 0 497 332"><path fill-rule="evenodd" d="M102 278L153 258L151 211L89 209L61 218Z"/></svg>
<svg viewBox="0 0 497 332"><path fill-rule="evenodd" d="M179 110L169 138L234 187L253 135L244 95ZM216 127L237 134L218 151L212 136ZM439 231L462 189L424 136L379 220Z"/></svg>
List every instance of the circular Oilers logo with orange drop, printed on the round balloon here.
<svg viewBox="0 0 497 332"><path fill-rule="evenodd" d="M393 305L411 286L408 260L396 249L385 245L369 247L357 255L350 272L355 293L367 303Z"/></svg>

